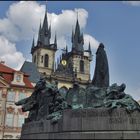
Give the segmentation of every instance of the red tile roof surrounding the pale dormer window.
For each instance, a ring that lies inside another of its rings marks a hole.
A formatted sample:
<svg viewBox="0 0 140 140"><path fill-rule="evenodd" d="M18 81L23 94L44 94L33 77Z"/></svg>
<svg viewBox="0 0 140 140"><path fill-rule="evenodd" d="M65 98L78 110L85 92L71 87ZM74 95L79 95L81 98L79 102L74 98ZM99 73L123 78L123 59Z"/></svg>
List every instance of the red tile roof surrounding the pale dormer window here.
<svg viewBox="0 0 140 140"><path fill-rule="evenodd" d="M20 72L20 71L16 71L16 70L0 63L0 73L2 73L2 77L5 79L5 81L7 83L9 83L11 86L14 86L14 87L33 88L32 84L28 78L29 76L27 74L24 74L24 78L23 78L23 81L25 83L24 86L11 84L11 81L13 81L13 78L14 78L14 72Z"/></svg>

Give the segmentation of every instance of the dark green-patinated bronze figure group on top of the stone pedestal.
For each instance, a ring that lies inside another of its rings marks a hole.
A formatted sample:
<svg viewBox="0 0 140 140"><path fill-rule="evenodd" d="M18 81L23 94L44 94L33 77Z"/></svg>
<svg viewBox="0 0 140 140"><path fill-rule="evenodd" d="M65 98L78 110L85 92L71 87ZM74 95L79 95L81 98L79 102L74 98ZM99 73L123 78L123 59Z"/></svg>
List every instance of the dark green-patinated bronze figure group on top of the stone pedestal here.
<svg viewBox="0 0 140 140"><path fill-rule="evenodd" d="M118 86L115 83L109 86L108 61L102 43L96 52L96 68L92 84L86 88L80 87L76 75L73 77L74 84L67 91L66 100L61 96L57 82L42 77L30 97L15 103L22 105L24 112L29 111L26 122L50 119L52 123L56 123L64 109L125 108L128 112L140 111L140 105L130 95L125 94L125 84Z"/></svg>

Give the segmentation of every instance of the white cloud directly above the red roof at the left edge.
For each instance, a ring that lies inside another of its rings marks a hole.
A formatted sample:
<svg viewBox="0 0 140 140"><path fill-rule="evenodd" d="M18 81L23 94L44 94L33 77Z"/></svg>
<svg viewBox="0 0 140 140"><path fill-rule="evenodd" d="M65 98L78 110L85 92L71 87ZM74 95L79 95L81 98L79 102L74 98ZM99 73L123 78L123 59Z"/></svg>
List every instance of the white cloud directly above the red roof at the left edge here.
<svg viewBox="0 0 140 140"><path fill-rule="evenodd" d="M21 52L16 50L14 43L9 42L4 36L0 36L0 60L15 69L19 69L24 62Z"/></svg>

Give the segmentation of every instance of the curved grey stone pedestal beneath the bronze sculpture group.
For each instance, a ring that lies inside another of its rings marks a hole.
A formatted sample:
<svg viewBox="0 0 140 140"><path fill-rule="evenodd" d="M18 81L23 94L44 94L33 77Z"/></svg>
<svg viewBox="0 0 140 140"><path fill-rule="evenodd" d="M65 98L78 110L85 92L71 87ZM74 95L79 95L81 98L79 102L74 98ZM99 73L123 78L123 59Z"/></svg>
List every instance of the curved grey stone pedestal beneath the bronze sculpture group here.
<svg viewBox="0 0 140 140"><path fill-rule="evenodd" d="M21 139L139 139L140 112L124 109L65 110L56 124L50 120L26 123Z"/></svg>

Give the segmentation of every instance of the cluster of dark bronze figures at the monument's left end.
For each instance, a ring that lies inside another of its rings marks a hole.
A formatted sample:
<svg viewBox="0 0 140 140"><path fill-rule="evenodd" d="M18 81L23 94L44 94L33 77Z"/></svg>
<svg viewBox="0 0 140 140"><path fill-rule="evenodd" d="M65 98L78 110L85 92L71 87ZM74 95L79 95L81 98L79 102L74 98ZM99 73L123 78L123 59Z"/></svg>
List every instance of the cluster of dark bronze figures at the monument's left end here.
<svg viewBox="0 0 140 140"><path fill-rule="evenodd" d="M55 122L56 118L61 116L62 110L71 108L60 95L57 83L50 83L46 81L45 77L41 78L36 84L35 90L30 97L15 104L22 105L23 112L30 111L26 122L41 119L52 119Z"/></svg>

